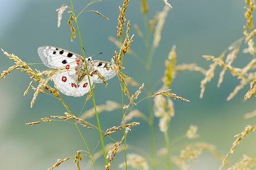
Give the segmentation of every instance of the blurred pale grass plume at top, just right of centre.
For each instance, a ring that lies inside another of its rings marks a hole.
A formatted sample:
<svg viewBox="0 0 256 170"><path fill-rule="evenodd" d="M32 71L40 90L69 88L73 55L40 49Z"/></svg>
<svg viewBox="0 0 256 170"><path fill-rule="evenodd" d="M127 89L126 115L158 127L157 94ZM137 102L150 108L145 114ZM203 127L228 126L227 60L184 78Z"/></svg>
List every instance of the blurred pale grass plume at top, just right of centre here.
<svg viewBox="0 0 256 170"><path fill-rule="evenodd" d="M165 6L163 8L163 11L158 13L158 22L156 26L156 30L154 31L154 37L153 37L153 47L157 48L159 45L159 42L161 40L161 32L163 29L163 25L165 24L165 18L167 16L168 11L170 10L170 7Z"/></svg>

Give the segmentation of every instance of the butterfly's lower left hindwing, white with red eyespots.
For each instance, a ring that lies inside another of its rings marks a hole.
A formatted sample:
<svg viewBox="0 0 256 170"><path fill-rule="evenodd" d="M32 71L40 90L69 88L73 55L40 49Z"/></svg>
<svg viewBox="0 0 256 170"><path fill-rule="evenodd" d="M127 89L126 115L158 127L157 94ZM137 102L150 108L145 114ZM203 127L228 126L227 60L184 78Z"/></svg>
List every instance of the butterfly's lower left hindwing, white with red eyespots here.
<svg viewBox="0 0 256 170"><path fill-rule="evenodd" d="M90 91L87 75L78 83L75 71L64 71L54 77L55 87L67 96L83 96ZM93 79L90 80L93 85Z"/></svg>

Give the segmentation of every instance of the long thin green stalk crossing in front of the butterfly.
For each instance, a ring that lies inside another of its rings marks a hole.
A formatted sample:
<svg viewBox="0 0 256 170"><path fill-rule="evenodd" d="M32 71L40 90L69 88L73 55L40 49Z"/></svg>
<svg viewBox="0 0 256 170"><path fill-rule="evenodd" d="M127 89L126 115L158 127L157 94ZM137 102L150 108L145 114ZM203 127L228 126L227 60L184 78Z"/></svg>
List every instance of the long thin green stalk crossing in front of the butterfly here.
<svg viewBox="0 0 256 170"><path fill-rule="evenodd" d="M81 35L80 35L80 31L79 31L79 26L78 26L78 20L77 20L77 18L75 16L75 11L74 11L72 0L70 0L70 5L71 5L72 11L73 11L73 15L75 17L76 29L78 31L78 37L79 37L79 42L80 42L80 45L81 45L81 51L83 53L84 61L85 61L85 69L86 69L86 71L88 71L88 66L87 66L86 59L85 59L85 52L84 52L84 47L83 47L83 41L81 39ZM99 116L98 116L98 112L97 112L97 109L96 109L96 102L95 102L95 98L94 98L93 88L92 88L91 82L90 82L90 76L89 75L87 75L87 76L88 76L90 90L91 90L91 97L93 99L93 105L94 105L96 120L97 120L97 124L98 124L100 140L102 142L102 149L103 149L103 154L104 154L105 165L107 166L108 165L108 160L107 160L107 156L106 156L106 152L105 152L105 145L104 145L104 140L103 140L103 136L102 136L102 128L100 127L100 121L99 121Z"/></svg>

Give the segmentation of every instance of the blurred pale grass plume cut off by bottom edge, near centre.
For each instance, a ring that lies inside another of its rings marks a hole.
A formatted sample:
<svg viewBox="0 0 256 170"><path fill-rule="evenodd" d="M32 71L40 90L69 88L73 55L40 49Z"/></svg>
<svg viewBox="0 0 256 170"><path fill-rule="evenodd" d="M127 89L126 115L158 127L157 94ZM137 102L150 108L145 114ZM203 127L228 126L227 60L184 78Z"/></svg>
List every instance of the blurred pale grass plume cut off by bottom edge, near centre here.
<svg viewBox="0 0 256 170"><path fill-rule="evenodd" d="M134 153L127 155L127 166L131 166L134 169L149 169L147 159ZM125 162L120 163L119 168L125 168Z"/></svg>

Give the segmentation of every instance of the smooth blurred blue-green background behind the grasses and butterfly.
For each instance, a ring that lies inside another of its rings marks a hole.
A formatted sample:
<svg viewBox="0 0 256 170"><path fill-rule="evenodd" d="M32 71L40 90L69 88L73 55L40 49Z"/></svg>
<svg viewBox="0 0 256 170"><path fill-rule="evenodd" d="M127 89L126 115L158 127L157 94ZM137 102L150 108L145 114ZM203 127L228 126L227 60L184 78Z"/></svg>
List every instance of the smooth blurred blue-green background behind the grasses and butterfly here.
<svg viewBox="0 0 256 170"><path fill-rule="evenodd" d="M37 55L39 46L51 45L65 48L67 50L81 54L78 37L74 42L70 41L70 28L66 21L69 15L65 12L62 18L61 27L57 27L56 9L62 4L69 5L69 1L32 1L32 0L9 0L1 1L2 9L0 25L0 47L19 56L28 63L41 62ZM80 11L89 1L74 1L76 12ZM221 52L232 42L243 36L244 2L233 0L215 1L170 1L173 9L170 10L166 18L162 31L160 47L154 55L152 65L152 80L159 79L165 70L165 60L172 45L177 46L177 64L197 63L199 66L208 69L211 62L205 61L202 55L209 54L219 56ZM122 2L117 0L106 0L93 4L88 9L94 9L105 14L110 21L105 21L94 13L85 12L79 18L81 36L84 41L86 51L90 55L103 52L102 56L95 59L110 61L117 49L108 37L116 37L116 26L118 16L118 6ZM152 18L158 11L162 11L164 3L162 1L148 1L149 18ZM126 13L127 20L131 20L131 25L137 24L143 30L143 16L141 14L141 1L131 1ZM132 43L132 50L136 51L144 60L144 42L138 37L133 27L135 37ZM242 46L242 49L245 45ZM234 63L235 66L245 66L250 61L248 54L238 55ZM13 62L6 56L0 54L0 71L7 70ZM125 56L125 74L134 78L139 83L144 82L146 72L142 66L134 60L132 56ZM45 70L46 66L33 66L38 70ZM226 101L226 97L233 91L239 81L228 72L224 77L221 88L217 88L218 74L206 85L203 99L199 98L200 81L203 76L198 72L184 71L177 74L172 84L172 92L186 99L189 103L175 102L175 117L171 120L171 140L184 134L191 124L199 127L200 138L192 141L185 140L173 146L172 154L178 151L187 143L207 142L216 145L221 154L226 154L234 141L233 135L240 133L245 125L255 124L255 119L244 120L244 113L255 109L254 99L243 101L243 96L249 89L247 86L241 90L231 101ZM73 156L76 150L85 149L80 136L74 125L68 123L45 123L35 126L28 126L25 123L40 120L40 118L50 115L62 115L65 109L54 98L47 95L40 95L36 99L33 108L30 108L32 91L23 96L30 78L21 72L14 71L5 79L0 81L0 166L1 169L47 169L51 167L57 158ZM158 85L154 90L158 90ZM136 88L131 88L131 93ZM66 103L74 111L79 113L85 97L73 98L62 95ZM142 96L145 96L143 94ZM141 96L141 97L142 97ZM118 79L108 81L107 89L103 85L96 86L96 104L104 104L106 100L113 100L121 103L120 88ZM86 104L83 111L93 107L91 101ZM139 104L137 109L147 114L147 101ZM119 125L122 118L122 111L117 110L111 113L100 114L102 128ZM138 147L139 154L147 159L151 158L149 144L148 127L140 119L141 125L132 129L128 134L128 145ZM96 125L95 117L89 119ZM156 143L157 149L165 145L163 134L158 130L158 120L156 119ZM98 143L99 134L96 130L82 130L91 150ZM119 139L121 134L113 135ZM243 153L249 156L255 155L256 135L250 134L236 149L235 154L230 157L231 162L239 159ZM105 143L111 140L106 139ZM100 146L97 150L100 150ZM141 151L143 150L143 151ZM128 150L133 153L134 150ZM113 161L113 168L117 169L118 164L123 162L124 154L118 153ZM86 161L88 160L85 157ZM103 159L97 162L98 167L103 167ZM192 164L192 169L218 169L220 161L217 161L210 154L202 154L199 161ZM82 169L86 167L86 162L82 162ZM76 169L72 161L62 164L59 169ZM100 168L99 168L100 169ZM172 169L178 169L172 164Z"/></svg>

